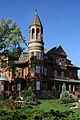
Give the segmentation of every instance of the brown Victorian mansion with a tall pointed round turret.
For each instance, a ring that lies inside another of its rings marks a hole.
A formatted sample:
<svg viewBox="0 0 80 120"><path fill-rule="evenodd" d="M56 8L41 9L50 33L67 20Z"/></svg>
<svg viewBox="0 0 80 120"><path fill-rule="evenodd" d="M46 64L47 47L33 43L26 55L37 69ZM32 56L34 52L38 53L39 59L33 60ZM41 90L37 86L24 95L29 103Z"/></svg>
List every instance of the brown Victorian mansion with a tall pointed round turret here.
<svg viewBox="0 0 80 120"><path fill-rule="evenodd" d="M8 66L8 58L2 57ZM44 50L43 25L37 12L29 26L28 52L22 53L15 64L15 73L9 69L1 73L0 89L21 91L31 84L35 92L54 89L61 92L64 83L67 91L71 92L76 91L80 84L79 67L67 59L61 46L47 52Z"/></svg>

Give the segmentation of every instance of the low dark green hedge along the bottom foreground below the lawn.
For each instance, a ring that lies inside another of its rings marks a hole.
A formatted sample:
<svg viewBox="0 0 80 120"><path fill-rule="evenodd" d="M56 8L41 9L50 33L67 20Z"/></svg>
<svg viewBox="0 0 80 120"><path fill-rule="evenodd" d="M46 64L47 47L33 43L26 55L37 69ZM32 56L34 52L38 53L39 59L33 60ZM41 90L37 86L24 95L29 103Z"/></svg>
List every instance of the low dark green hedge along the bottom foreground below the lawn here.
<svg viewBox="0 0 80 120"><path fill-rule="evenodd" d="M48 112L34 109L18 110L0 110L0 120L79 120L79 117L72 111L55 111Z"/></svg>

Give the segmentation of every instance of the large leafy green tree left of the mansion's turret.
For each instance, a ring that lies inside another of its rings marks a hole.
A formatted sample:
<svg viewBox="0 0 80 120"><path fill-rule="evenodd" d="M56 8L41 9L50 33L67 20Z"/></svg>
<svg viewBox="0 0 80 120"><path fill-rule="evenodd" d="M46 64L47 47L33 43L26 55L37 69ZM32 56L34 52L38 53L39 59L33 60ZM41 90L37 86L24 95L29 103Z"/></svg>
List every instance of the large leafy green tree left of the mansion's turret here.
<svg viewBox="0 0 80 120"><path fill-rule="evenodd" d="M18 60L23 51L21 43L26 44L26 41L18 25L11 19L2 19L0 22L0 54L7 54L11 61Z"/></svg>

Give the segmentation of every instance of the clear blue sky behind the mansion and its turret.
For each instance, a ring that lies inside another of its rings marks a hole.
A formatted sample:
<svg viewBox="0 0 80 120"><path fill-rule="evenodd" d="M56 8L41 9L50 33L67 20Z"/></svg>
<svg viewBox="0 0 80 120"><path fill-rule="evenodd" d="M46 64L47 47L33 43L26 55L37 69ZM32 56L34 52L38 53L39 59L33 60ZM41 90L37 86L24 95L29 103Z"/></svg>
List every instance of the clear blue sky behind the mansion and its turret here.
<svg viewBox="0 0 80 120"><path fill-rule="evenodd" d="M68 59L80 66L80 0L0 0L0 20L15 21L28 42L36 9L44 27L45 48L61 45Z"/></svg>

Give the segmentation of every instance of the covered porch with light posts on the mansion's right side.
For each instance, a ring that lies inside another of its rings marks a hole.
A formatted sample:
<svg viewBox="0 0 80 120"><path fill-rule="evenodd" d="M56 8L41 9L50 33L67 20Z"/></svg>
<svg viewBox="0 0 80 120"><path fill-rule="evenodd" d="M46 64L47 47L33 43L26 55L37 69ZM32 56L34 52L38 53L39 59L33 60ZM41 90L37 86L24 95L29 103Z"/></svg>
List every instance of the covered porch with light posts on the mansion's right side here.
<svg viewBox="0 0 80 120"><path fill-rule="evenodd" d="M46 90L57 90L61 92L63 83L65 83L67 91L75 92L80 81L74 79L47 79L45 82Z"/></svg>

